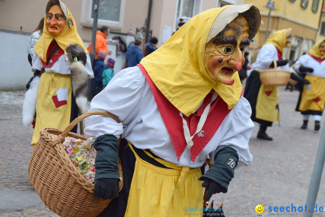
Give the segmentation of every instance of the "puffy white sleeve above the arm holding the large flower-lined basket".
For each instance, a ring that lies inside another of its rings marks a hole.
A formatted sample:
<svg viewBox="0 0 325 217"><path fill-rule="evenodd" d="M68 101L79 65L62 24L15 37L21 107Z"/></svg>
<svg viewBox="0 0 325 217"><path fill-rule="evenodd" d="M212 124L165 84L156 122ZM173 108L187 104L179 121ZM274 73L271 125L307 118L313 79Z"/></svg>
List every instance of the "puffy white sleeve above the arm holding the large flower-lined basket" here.
<svg viewBox="0 0 325 217"><path fill-rule="evenodd" d="M119 137L123 128L132 127L140 119L143 80L139 67L130 67L117 73L110 83L97 94L90 104L89 111L107 111L116 115L122 123L117 123L110 117L92 115L85 118L85 134L92 138L101 135ZM132 122L132 123L131 123Z"/></svg>

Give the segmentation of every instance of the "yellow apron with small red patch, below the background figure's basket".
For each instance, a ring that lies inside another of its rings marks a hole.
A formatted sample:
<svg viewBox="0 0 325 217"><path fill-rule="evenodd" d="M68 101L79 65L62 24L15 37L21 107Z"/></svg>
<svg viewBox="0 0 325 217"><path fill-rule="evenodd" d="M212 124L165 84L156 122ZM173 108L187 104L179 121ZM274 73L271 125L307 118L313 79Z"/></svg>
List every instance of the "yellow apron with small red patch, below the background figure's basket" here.
<svg viewBox="0 0 325 217"><path fill-rule="evenodd" d="M279 109L276 106L279 103L279 88L265 87L261 84L256 101L256 118L274 122L279 121Z"/></svg>

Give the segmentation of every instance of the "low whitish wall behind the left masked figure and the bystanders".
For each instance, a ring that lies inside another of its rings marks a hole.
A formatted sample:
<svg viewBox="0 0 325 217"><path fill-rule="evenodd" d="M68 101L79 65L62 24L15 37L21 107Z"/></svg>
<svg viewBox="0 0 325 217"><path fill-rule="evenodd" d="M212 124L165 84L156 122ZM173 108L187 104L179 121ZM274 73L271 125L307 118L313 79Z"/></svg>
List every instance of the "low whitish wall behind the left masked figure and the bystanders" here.
<svg viewBox="0 0 325 217"><path fill-rule="evenodd" d="M115 36L110 34L109 37ZM133 36L122 36L127 45L134 40ZM0 91L3 90L25 90L26 84L33 76L31 65L27 59L27 45L30 35L0 32ZM88 42L85 42L88 46ZM116 57L116 45L108 45L113 49L110 58L115 60L114 73L118 73L125 61L125 53Z"/></svg>

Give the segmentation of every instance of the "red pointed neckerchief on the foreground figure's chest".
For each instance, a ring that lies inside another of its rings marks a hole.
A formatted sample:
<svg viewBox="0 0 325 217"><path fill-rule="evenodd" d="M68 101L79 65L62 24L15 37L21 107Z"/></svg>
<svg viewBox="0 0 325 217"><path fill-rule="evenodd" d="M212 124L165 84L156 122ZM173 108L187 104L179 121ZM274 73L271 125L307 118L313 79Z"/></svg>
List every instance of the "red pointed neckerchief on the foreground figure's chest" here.
<svg viewBox="0 0 325 217"><path fill-rule="evenodd" d="M160 92L160 90L156 87L156 85L151 80L147 71L141 64L137 64L140 67L141 71L145 75L155 101L158 106L158 110L162 116L162 120L167 128L167 131L172 139L174 150L176 153L176 157L180 158L182 153L184 152L187 143L184 137L183 130L183 121L181 116L179 115L179 110L167 100L167 98ZM243 90L241 95L243 94ZM203 113L204 108L210 103L212 97L212 92L210 92L204 99L203 105L200 109L198 109L196 114L192 114L188 117L183 115L184 119L187 121L188 128L190 130L191 135L195 133L196 127L199 123L200 117ZM207 116L207 119L203 125L201 130L204 131L203 137L202 134L197 133L196 136L193 137L193 146L190 150L191 152L191 161L195 161L196 157L200 154L202 149L206 146L206 144L211 140L214 136L215 132L218 130L222 121L229 114L231 109L228 109L228 105L220 96L217 97L214 102L211 103L210 112Z"/></svg>

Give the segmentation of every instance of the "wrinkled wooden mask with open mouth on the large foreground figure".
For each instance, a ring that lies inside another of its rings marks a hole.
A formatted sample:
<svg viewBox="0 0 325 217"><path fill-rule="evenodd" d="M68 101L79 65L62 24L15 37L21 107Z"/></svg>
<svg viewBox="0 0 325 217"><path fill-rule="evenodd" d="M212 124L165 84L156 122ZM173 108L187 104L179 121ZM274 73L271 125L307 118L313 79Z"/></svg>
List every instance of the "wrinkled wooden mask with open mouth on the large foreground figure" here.
<svg viewBox="0 0 325 217"><path fill-rule="evenodd" d="M233 85L232 75L245 62L245 47L250 44L248 37L248 22L240 15L205 45L204 67L213 80Z"/></svg>

